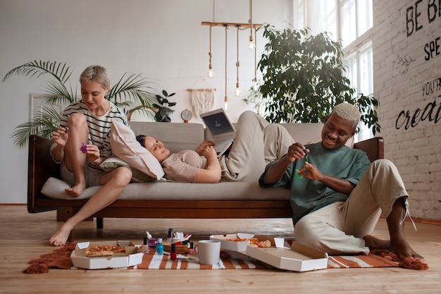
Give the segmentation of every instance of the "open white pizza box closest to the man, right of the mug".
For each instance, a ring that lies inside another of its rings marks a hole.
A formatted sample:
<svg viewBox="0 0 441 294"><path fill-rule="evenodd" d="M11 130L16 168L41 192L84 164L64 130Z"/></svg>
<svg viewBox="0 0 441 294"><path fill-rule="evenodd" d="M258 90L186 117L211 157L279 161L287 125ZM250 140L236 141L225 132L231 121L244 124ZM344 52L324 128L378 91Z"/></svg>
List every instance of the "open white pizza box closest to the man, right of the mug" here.
<svg viewBox="0 0 441 294"><path fill-rule="evenodd" d="M278 269L314 271L328 267L328 253L326 252L313 249L295 241L292 242L291 247L280 247L280 240L275 241L275 238L259 236L259 240L271 240L271 247L256 248L247 246L246 254Z"/></svg>

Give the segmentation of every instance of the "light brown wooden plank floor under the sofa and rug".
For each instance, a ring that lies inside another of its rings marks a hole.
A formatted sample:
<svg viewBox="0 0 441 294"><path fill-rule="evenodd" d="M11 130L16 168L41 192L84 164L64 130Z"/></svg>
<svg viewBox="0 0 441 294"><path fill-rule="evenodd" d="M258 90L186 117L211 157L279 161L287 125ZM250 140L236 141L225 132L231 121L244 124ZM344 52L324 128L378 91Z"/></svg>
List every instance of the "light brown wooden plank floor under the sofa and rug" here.
<svg viewBox="0 0 441 294"><path fill-rule="evenodd" d="M406 223L412 247L430 269L324 269L304 273L278 269L253 270L64 270L23 274L27 261L49 253L47 243L61 223L55 212L28 214L25 206L0 206L0 293L441 293L441 226ZM76 241L132 240L142 243L146 230L166 236L168 228L206 238L211 233L237 231L292 237L290 219L104 219L77 227ZM387 238L385 220L376 235Z"/></svg>

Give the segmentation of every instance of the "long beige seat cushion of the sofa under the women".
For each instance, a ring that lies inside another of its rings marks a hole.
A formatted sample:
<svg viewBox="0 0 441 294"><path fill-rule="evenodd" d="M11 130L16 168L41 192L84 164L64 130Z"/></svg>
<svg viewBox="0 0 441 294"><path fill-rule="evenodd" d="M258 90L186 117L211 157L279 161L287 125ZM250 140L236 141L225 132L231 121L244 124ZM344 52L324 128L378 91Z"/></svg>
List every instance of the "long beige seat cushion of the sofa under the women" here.
<svg viewBox="0 0 441 294"><path fill-rule="evenodd" d="M49 178L44 183L42 194L54 199L89 199L101 186L87 188L79 197L64 192L68 183L58 178ZM290 190L285 188L265 189L259 183L221 182L177 183L157 180L151 183L130 183L118 200L289 200Z"/></svg>

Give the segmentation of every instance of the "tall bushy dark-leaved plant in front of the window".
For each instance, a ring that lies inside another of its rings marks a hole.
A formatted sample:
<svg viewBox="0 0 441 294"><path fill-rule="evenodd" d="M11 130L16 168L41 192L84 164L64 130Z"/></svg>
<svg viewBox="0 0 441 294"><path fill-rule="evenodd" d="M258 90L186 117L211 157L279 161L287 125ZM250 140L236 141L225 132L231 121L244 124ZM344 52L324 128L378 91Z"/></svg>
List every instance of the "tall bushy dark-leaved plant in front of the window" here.
<svg viewBox="0 0 441 294"><path fill-rule="evenodd" d="M323 32L309 36L309 30L277 30L263 26L268 39L258 68L263 80L257 90L272 123L321 123L336 104L358 106L361 121L380 132L375 97L356 94L344 75L343 51Z"/></svg>

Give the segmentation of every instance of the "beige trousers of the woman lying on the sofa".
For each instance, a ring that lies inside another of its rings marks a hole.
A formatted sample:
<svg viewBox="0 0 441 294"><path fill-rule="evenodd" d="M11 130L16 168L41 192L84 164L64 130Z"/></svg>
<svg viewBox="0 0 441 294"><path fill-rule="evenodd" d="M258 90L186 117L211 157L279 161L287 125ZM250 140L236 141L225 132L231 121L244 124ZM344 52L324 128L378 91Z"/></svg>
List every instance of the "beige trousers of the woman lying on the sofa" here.
<svg viewBox="0 0 441 294"><path fill-rule="evenodd" d="M219 158L224 181L257 182L265 166L285 155L294 143L282 125L268 123L252 111L240 115L236 130L229 154Z"/></svg>

